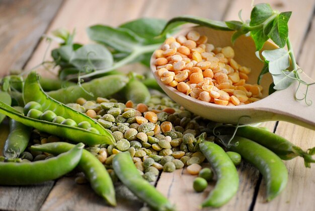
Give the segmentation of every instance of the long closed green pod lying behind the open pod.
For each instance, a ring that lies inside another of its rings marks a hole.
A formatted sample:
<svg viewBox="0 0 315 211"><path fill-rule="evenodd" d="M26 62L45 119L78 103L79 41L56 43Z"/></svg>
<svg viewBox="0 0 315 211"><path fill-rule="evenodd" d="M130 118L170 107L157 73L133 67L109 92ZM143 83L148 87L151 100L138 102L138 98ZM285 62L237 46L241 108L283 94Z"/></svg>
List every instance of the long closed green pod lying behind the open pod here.
<svg viewBox="0 0 315 211"><path fill-rule="evenodd" d="M112 75L94 79L80 86L71 86L64 89L48 92L53 99L67 104L83 97L86 100L95 100L97 97L111 96L126 86L129 79L124 75ZM93 95L91 95L93 94Z"/></svg>

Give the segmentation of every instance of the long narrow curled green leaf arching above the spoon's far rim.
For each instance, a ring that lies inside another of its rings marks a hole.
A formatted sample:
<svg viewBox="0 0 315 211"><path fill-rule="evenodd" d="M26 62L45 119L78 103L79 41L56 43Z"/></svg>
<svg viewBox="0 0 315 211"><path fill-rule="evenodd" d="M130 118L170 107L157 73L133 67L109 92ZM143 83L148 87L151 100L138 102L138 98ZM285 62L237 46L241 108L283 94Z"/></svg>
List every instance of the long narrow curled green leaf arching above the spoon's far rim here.
<svg viewBox="0 0 315 211"><path fill-rule="evenodd" d="M193 23L193 24L198 24L201 26L206 26L212 29L217 29L217 30L223 30L223 31L231 31L227 27L224 21L212 21L206 18L201 18L197 16L190 16L190 15L185 15L185 16L178 16L175 18L172 18L164 27L162 31L162 35L167 33L168 31L174 29L175 27L178 27L182 24L185 23Z"/></svg>

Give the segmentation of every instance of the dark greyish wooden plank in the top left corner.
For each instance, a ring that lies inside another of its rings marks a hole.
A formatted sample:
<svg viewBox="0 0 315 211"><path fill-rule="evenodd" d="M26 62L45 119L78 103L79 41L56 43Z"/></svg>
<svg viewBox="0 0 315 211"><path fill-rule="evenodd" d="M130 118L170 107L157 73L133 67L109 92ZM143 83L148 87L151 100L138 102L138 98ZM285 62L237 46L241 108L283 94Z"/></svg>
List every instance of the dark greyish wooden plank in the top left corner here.
<svg viewBox="0 0 315 211"><path fill-rule="evenodd" d="M21 69L62 0L14 0L0 4L0 76Z"/></svg>

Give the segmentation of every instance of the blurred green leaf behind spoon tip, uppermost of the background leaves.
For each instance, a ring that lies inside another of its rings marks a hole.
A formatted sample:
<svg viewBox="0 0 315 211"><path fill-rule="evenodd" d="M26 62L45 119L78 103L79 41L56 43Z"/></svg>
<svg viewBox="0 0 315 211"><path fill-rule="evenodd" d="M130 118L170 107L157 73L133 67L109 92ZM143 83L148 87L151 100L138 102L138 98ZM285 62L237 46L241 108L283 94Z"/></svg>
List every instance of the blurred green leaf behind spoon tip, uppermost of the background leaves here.
<svg viewBox="0 0 315 211"><path fill-rule="evenodd" d="M129 29L139 37L144 38L148 43L154 44L164 42L165 37L155 38L159 36L166 25L167 21L156 18L140 18L127 22L119 26L119 28Z"/></svg>

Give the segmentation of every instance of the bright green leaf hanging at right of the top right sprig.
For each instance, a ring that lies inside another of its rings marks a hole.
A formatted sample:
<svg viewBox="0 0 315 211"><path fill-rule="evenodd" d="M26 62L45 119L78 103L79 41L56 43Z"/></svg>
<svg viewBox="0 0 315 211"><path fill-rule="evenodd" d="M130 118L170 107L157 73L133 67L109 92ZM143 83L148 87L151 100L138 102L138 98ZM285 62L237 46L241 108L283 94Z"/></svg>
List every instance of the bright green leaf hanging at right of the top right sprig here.
<svg viewBox="0 0 315 211"><path fill-rule="evenodd" d="M274 41L280 48L283 48L288 38L288 21L292 12L280 13L275 19L273 27L268 34L270 39Z"/></svg>

